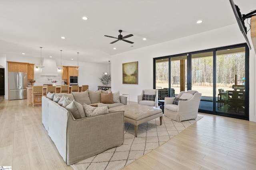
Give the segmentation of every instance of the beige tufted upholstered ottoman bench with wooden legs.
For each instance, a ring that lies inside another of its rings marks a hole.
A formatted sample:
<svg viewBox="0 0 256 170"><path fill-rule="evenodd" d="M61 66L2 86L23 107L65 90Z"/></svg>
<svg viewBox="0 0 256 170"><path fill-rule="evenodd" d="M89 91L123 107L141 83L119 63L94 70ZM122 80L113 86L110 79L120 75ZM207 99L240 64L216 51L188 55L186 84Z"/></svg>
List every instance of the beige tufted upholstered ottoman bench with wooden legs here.
<svg viewBox="0 0 256 170"><path fill-rule="evenodd" d="M130 104L124 106L117 106L108 109L109 112L112 111L124 111L124 121L134 125L134 133L137 137L138 126L142 123L156 119L160 117L160 125L162 125L163 112L162 109L156 108L154 106L146 106L141 104Z"/></svg>

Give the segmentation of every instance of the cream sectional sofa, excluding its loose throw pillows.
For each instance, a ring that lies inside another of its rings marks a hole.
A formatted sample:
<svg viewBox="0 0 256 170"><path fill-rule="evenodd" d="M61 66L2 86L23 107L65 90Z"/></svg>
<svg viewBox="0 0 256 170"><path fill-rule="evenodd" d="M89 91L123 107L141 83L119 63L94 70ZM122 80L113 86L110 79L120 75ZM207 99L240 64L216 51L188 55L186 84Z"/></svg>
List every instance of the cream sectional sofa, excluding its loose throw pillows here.
<svg viewBox="0 0 256 170"><path fill-rule="evenodd" d="M75 100L77 96L73 94L55 95ZM120 96L118 104L97 104L122 106L126 104L126 97ZM124 142L124 111L75 119L66 108L43 96L42 123L66 164L74 164Z"/></svg>

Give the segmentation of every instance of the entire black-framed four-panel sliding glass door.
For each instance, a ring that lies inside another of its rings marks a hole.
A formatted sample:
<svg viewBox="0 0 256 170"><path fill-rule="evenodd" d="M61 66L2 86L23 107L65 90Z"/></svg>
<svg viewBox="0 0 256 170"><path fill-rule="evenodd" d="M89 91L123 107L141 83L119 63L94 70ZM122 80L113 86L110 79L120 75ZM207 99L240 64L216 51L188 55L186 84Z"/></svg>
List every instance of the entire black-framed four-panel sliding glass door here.
<svg viewBox="0 0 256 170"><path fill-rule="evenodd" d="M154 88L160 100L196 90L200 112L248 120L248 59L246 44L156 58Z"/></svg>

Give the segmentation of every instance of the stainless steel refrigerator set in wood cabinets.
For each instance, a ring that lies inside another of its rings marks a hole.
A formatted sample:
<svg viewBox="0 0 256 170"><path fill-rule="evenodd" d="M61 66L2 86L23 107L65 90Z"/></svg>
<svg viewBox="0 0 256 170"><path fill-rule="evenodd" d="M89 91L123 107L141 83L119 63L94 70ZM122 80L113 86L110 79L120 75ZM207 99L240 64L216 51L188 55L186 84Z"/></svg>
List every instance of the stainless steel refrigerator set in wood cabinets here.
<svg viewBox="0 0 256 170"><path fill-rule="evenodd" d="M27 73L9 72L9 100L27 98Z"/></svg>

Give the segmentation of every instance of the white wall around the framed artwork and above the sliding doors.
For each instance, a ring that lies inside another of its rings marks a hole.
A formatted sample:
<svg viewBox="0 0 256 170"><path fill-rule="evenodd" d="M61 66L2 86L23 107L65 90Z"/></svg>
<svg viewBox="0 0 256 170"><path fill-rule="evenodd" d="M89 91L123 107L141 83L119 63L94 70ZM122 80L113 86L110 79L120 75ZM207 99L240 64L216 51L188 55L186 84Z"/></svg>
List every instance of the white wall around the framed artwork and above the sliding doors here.
<svg viewBox="0 0 256 170"><path fill-rule="evenodd" d="M250 37L250 33L248 34ZM120 90L120 94L130 94L130 100L137 102L137 95L142 89L153 88L153 58L176 55L228 45L244 43L237 24L203 32L196 35L159 43L156 45L128 51L111 57L112 91ZM138 85L122 84L122 63L138 61ZM250 121L256 121L254 114L254 78L256 73L254 50L250 51Z"/></svg>

